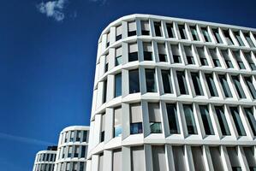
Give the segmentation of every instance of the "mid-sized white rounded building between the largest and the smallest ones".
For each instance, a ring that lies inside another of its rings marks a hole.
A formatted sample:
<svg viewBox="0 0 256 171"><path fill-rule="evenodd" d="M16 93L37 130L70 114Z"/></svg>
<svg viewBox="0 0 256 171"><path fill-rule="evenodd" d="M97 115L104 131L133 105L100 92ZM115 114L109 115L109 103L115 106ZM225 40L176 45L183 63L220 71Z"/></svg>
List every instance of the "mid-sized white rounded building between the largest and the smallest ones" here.
<svg viewBox="0 0 256 171"><path fill-rule="evenodd" d="M60 133L54 171L85 171L89 127L67 127Z"/></svg>

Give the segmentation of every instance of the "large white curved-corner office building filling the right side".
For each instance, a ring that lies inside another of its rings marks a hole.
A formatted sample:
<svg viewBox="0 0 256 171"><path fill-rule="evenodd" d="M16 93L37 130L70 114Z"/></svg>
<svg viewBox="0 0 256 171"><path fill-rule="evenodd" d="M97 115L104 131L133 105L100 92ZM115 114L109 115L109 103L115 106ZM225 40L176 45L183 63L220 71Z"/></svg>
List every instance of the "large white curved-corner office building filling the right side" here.
<svg viewBox="0 0 256 171"><path fill-rule="evenodd" d="M256 170L256 29L128 15L98 40L86 171Z"/></svg>

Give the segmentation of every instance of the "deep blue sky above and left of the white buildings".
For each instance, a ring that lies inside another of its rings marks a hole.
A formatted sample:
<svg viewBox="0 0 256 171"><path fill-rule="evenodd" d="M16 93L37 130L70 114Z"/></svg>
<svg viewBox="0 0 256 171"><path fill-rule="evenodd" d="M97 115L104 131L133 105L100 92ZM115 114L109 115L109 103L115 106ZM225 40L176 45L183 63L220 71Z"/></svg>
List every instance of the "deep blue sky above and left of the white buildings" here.
<svg viewBox="0 0 256 171"><path fill-rule="evenodd" d="M253 0L2 0L0 166L32 170L70 125L88 125L100 32L123 15L256 27Z"/></svg>

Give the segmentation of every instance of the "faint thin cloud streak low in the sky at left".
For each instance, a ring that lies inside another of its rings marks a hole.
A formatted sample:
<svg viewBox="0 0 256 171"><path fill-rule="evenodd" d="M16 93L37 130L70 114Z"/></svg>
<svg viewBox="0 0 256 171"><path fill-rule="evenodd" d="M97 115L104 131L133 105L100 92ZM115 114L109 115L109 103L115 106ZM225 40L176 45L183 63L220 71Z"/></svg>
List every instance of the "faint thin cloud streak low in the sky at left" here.
<svg viewBox="0 0 256 171"><path fill-rule="evenodd" d="M39 139L31 139L31 138L27 138L27 137L20 137L20 136L7 134L7 133L0 133L0 139L7 139L7 140L11 140L11 141L17 141L17 142L24 143L24 144L37 144L37 145L54 144L54 143L42 141L42 140L39 140Z"/></svg>

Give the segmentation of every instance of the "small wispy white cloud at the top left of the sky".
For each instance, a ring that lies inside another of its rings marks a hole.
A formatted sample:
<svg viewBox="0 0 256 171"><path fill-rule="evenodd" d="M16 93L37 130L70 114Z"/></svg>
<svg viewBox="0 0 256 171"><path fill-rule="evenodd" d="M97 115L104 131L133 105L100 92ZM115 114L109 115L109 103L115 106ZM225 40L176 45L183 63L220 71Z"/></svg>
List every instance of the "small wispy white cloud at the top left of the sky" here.
<svg viewBox="0 0 256 171"><path fill-rule="evenodd" d="M47 17L51 17L56 21L63 21L65 18L63 9L66 3L68 3L68 0L48 1L46 3L42 2L37 5L37 9Z"/></svg>

